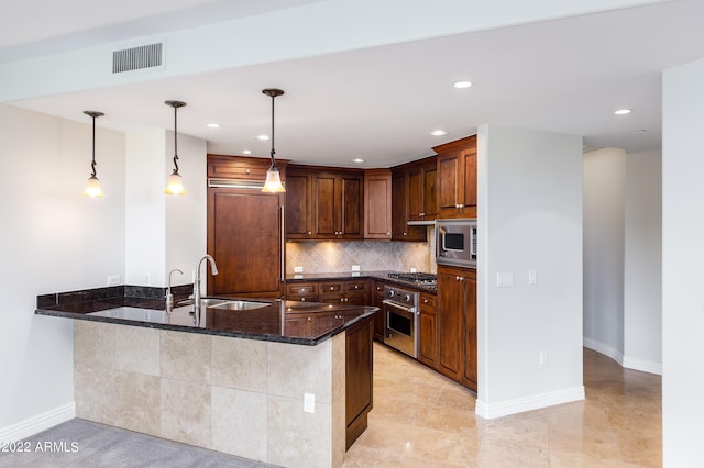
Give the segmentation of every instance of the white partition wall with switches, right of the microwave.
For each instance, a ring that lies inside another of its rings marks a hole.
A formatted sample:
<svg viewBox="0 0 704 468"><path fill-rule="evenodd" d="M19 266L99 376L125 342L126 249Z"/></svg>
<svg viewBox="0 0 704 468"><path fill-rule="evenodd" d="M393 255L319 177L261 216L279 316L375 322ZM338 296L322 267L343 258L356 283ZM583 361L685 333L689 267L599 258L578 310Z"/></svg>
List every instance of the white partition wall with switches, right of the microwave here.
<svg viewBox="0 0 704 468"><path fill-rule="evenodd" d="M477 169L476 412L581 400L582 138L483 125ZM497 287L498 272L514 286Z"/></svg>

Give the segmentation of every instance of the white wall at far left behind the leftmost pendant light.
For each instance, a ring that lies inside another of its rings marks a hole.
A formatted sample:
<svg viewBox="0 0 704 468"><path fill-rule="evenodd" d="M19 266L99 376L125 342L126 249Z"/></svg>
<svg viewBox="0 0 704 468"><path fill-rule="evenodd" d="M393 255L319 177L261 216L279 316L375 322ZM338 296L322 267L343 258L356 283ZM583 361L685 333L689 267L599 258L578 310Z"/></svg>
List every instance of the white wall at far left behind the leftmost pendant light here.
<svg viewBox="0 0 704 468"><path fill-rule="evenodd" d="M73 414L73 323L34 315L36 296L106 286L124 268L124 136L91 121L0 105L0 441ZM100 120L97 121L100 125Z"/></svg>

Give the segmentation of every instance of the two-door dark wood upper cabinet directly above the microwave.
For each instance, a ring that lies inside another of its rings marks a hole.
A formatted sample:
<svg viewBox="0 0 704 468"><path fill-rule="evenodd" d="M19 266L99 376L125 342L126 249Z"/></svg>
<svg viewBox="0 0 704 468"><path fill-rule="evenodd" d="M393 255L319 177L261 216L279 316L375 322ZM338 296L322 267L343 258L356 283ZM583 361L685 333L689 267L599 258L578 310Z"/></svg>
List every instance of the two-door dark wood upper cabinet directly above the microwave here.
<svg viewBox="0 0 704 468"><path fill-rule="evenodd" d="M476 135L435 146L439 218L476 218Z"/></svg>

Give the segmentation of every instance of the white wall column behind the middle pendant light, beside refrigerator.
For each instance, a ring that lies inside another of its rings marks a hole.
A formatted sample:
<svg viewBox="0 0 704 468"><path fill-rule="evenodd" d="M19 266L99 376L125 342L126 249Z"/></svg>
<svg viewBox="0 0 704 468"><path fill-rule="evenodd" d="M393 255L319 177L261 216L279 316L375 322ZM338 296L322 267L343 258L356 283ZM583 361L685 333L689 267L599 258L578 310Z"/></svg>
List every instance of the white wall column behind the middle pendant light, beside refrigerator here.
<svg viewBox="0 0 704 468"><path fill-rule="evenodd" d="M206 142L178 135L186 194L172 197L164 188L174 167L174 133L131 132L127 141L125 282L164 287L168 272L179 268L184 275L174 274L173 283L190 283L196 263L206 254Z"/></svg>

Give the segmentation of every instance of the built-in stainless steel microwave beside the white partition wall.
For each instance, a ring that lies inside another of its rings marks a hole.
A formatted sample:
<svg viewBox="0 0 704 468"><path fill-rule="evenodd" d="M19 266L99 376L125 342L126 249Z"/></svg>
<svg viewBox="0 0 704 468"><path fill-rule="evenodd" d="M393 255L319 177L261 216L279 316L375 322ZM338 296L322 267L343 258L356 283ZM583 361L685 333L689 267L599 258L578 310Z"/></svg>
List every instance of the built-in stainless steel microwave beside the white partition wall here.
<svg viewBox="0 0 704 468"><path fill-rule="evenodd" d="M476 219L436 220L436 263L476 268Z"/></svg>

